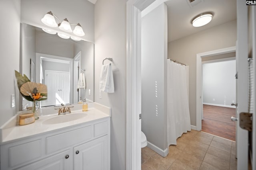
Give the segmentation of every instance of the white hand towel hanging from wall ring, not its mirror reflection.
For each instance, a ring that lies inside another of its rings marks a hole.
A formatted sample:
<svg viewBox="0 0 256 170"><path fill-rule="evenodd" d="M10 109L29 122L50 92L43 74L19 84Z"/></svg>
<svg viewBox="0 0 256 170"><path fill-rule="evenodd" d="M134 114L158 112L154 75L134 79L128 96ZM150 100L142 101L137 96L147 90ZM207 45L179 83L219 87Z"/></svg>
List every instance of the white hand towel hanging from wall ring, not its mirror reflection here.
<svg viewBox="0 0 256 170"><path fill-rule="evenodd" d="M114 79L111 63L102 65L100 72L100 90L102 92L114 93Z"/></svg>

